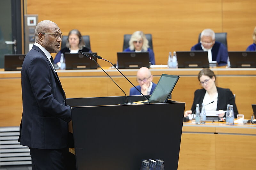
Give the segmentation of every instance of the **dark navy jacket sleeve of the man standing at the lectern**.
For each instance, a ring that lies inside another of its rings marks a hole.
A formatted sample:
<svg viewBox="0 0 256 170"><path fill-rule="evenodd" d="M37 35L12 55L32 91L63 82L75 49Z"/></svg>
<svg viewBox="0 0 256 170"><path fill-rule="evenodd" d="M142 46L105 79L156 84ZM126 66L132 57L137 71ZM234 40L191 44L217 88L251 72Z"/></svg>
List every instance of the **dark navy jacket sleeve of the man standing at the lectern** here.
<svg viewBox="0 0 256 170"><path fill-rule="evenodd" d="M50 61L49 61L50 63ZM56 83L58 81L52 81L59 88L54 88L51 85L50 80L57 79L57 77L52 73L49 68L49 63L46 58L35 57L31 60L31 63L28 66L27 75L30 80L30 85L34 93L36 102L38 106L48 113L44 116L56 116L67 122L71 120L71 111L70 107L67 106L66 100L61 101L60 103L56 99L66 99L65 92L63 91L61 84ZM45 69L47 68L47 69ZM60 96L62 94L62 96Z"/></svg>

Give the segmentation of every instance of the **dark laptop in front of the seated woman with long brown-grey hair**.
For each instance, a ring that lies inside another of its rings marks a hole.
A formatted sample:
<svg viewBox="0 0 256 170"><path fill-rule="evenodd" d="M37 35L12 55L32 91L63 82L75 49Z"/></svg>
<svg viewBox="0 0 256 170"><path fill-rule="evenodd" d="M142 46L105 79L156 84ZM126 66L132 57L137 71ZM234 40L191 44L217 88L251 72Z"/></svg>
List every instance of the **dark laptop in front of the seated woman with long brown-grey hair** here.
<svg viewBox="0 0 256 170"><path fill-rule="evenodd" d="M89 52L84 52L89 54ZM93 53L96 54L97 53ZM90 58L80 53L65 53L66 70L97 69L98 65ZM93 58L97 62L97 58Z"/></svg>

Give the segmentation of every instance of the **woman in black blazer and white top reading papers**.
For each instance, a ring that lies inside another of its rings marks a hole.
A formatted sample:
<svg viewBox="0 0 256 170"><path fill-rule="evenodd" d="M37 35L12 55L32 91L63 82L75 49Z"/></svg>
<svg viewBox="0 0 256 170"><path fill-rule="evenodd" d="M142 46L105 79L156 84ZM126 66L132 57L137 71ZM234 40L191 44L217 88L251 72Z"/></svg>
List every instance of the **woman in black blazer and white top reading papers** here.
<svg viewBox="0 0 256 170"><path fill-rule="evenodd" d="M238 114L236 103L234 99L233 93L229 89L224 89L220 87L216 87L215 80L216 76L214 72L208 68L201 70L198 74L199 84L203 87L202 89L198 89L195 91L194 102L191 107L191 110L186 110L184 113L184 117L188 116L188 114L195 113L196 104L199 104L200 108L202 103L205 105L205 111L216 111L216 110L224 110L226 111L227 105L233 105L234 115ZM222 118L225 113L221 113L219 115Z"/></svg>

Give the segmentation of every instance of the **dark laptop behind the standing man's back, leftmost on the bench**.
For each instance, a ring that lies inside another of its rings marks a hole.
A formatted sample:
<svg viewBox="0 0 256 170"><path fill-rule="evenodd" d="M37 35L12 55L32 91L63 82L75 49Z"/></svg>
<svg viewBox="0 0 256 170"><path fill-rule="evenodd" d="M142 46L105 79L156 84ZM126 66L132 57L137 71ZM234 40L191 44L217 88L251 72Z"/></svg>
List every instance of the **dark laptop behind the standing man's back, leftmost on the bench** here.
<svg viewBox="0 0 256 170"><path fill-rule="evenodd" d="M4 55L4 71L21 70L23 60L26 54L5 54Z"/></svg>

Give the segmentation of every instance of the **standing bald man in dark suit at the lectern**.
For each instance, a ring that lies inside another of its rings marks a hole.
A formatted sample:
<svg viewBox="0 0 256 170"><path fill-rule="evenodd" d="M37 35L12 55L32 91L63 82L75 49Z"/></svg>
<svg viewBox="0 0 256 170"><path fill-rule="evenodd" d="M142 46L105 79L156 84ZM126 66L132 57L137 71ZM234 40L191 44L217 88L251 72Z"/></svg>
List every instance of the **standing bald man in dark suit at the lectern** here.
<svg viewBox="0 0 256 170"><path fill-rule="evenodd" d="M19 141L30 149L33 170L66 169L71 110L51 56L59 52L61 38L57 24L49 20L39 22L35 44L22 64Z"/></svg>

